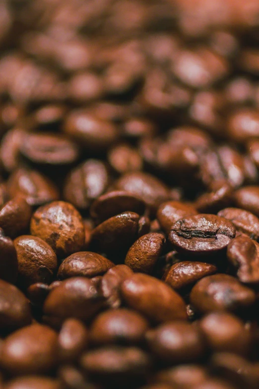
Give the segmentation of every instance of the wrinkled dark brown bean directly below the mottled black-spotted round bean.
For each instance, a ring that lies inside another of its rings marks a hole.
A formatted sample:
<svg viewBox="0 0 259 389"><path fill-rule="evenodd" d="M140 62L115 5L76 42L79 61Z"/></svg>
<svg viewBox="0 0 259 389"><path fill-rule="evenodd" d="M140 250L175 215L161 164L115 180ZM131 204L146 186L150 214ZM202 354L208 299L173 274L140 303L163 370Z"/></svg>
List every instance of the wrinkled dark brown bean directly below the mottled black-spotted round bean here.
<svg viewBox="0 0 259 389"><path fill-rule="evenodd" d="M32 235L17 237L14 246L18 259L18 284L23 288L36 282L50 284L58 267L51 246Z"/></svg>

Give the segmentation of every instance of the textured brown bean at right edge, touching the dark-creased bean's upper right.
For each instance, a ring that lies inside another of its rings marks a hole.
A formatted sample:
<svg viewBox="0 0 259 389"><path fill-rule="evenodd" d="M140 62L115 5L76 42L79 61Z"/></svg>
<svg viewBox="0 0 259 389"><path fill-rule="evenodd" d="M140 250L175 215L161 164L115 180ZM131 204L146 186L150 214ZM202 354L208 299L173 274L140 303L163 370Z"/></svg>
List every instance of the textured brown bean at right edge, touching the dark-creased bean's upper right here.
<svg viewBox="0 0 259 389"><path fill-rule="evenodd" d="M218 216L230 220L240 233L258 240L259 219L251 212L239 208L225 208L218 212Z"/></svg>

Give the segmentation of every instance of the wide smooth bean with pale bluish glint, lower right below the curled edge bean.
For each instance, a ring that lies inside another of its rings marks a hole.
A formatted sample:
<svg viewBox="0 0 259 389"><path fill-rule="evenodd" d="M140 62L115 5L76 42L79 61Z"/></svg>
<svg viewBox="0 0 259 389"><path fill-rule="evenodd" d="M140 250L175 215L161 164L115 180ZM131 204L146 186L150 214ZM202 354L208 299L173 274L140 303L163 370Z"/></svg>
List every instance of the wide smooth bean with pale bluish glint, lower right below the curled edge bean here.
<svg viewBox="0 0 259 389"><path fill-rule="evenodd" d="M213 274L202 278L194 285L190 302L202 313L247 311L255 303L255 292L232 276Z"/></svg>

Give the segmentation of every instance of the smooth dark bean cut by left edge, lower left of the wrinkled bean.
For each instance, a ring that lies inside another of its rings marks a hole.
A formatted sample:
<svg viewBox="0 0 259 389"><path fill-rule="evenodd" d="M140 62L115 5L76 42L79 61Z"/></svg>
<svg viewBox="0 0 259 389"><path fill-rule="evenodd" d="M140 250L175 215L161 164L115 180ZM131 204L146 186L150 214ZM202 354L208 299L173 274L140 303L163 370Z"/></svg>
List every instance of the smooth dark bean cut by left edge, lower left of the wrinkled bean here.
<svg viewBox="0 0 259 389"><path fill-rule="evenodd" d="M29 301L14 285L0 280L0 330L13 331L31 323Z"/></svg>

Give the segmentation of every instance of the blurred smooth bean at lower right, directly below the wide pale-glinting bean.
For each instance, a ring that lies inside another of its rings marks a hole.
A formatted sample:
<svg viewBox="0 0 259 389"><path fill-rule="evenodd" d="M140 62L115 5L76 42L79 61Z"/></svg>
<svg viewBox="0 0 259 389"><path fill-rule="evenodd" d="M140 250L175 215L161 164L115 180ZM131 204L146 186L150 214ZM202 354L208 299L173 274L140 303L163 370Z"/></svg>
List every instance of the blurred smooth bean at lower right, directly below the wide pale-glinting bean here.
<svg viewBox="0 0 259 389"><path fill-rule="evenodd" d="M244 323L227 312L212 312L198 323L206 343L213 351L247 354L251 336Z"/></svg>

